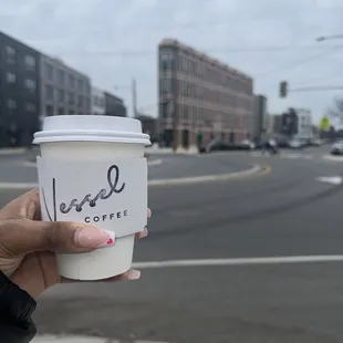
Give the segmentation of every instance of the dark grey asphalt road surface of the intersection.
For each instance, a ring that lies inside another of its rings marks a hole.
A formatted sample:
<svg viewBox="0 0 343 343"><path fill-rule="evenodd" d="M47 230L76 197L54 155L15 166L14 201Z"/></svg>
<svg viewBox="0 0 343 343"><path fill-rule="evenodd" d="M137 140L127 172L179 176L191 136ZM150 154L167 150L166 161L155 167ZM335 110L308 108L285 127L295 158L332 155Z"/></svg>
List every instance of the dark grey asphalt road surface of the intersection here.
<svg viewBox="0 0 343 343"><path fill-rule="evenodd" d="M343 251L342 186L318 180L342 174L343 164L324 154L323 147L298 157L175 157L177 164L210 160L218 172L228 158L232 166L258 163L271 173L150 188L150 235L137 243L135 261L196 266L143 263L139 281L55 287L39 300L40 332L125 342L342 342L343 261L299 258ZM0 202L19 193L0 191ZM208 259L221 260L206 266Z"/></svg>

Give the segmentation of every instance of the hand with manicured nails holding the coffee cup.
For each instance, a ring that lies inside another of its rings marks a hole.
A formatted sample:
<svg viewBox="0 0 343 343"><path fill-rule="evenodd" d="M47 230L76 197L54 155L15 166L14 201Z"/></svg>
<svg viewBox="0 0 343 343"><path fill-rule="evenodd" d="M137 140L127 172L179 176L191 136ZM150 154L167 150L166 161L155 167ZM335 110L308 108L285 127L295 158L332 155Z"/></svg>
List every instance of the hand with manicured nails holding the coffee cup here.
<svg viewBox="0 0 343 343"><path fill-rule="evenodd" d="M152 212L148 209L147 216ZM12 282L35 298L48 288L72 282L58 272L55 252L87 252L106 243L108 232L77 222L41 221L39 190L33 189L0 210L0 270ZM147 236L147 230L136 235ZM135 280L137 270L129 270L111 281Z"/></svg>

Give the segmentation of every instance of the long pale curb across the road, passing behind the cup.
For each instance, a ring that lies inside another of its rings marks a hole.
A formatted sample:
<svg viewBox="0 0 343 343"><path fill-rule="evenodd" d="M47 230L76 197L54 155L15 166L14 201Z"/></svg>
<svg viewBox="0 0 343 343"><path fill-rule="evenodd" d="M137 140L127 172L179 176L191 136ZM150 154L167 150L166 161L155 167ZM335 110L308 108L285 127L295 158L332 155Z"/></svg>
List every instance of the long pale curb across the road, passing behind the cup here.
<svg viewBox="0 0 343 343"><path fill-rule="evenodd" d="M225 181L231 179L240 179L259 172L269 170L269 167L261 167L260 165L254 165L250 169L229 173L229 174L219 174L219 175L204 175L204 176L194 176L194 177L180 177L180 178L169 178L169 179L157 179L149 180L149 187L158 187L158 186L178 186L178 185L195 185L202 183L211 183L211 181ZM0 183L0 189L31 189L38 187L35 183Z"/></svg>

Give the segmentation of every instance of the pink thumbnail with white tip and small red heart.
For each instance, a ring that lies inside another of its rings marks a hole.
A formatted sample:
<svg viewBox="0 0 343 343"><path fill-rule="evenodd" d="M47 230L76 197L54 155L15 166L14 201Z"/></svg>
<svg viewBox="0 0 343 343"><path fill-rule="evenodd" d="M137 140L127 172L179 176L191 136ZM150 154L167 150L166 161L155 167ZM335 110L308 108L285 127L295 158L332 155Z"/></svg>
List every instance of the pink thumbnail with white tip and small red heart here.
<svg viewBox="0 0 343 343"><path fill-rule="evenodd" d="M114 243L114 232L97 228L81 229L75 237L76 243L83 248L106 247Z"/></svg>

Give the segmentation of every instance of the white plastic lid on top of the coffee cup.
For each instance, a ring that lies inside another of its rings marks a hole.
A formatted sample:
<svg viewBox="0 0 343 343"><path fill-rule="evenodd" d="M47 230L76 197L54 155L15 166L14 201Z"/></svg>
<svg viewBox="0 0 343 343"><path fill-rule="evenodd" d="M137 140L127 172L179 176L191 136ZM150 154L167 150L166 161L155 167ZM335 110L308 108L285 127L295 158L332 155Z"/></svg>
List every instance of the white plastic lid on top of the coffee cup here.
<svg viewBox="0 0 343 343"><path fill-rule="evenodd" d="M56 115L44 118L33 144L55 142L105 142L150 145L138 119L105 115Z"/></svg>

